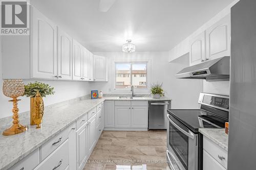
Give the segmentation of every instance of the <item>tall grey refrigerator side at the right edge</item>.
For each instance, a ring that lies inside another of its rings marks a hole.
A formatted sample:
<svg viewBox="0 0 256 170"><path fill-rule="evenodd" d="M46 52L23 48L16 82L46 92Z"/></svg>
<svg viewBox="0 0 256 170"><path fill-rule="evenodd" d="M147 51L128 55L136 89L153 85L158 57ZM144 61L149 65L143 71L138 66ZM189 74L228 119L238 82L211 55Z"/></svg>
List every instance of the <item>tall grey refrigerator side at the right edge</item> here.
<svg viewBox="0 0 256 170"><path fill-rule="evenodd" d="M231 8L228 170L255 169L256 1Z"/></svg>

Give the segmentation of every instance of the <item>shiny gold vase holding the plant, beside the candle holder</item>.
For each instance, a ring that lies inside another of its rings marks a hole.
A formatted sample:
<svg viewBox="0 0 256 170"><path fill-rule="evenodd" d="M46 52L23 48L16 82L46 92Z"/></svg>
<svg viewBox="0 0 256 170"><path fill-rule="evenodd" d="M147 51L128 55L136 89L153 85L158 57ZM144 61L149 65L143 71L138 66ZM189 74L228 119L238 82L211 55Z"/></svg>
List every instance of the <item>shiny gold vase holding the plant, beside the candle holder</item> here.
<svg viewBox="0 0 256 170"><path fill-rule="evenodd" d="M41 116L39 115L41 114ZM41 96L30 98L30 125L39 125L42 123L42 115L44 114L44 102ZM38 126L39 127L39 126Z"/></svg>

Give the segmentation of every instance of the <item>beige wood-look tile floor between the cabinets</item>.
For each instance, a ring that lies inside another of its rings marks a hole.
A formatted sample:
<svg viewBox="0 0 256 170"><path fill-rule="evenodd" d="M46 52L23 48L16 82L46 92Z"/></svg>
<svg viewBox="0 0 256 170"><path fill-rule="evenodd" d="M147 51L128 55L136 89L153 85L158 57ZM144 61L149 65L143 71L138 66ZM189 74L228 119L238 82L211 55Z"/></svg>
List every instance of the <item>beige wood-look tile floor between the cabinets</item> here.
<svg viewBox="0 0 256 170"><path fill-rule="evenodd" d="M103 131L83 170L169 170L166 131Z"/></svg>

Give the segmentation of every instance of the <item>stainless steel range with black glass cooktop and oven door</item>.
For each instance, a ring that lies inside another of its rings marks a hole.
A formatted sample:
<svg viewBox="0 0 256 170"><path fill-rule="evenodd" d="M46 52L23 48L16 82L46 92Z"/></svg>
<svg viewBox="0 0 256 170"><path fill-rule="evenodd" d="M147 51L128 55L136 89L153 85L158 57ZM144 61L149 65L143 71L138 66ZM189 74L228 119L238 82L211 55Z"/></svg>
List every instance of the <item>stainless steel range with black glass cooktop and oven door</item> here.
<svg viewBox="0 0 256 170"><path fill-rule="evenodd" d="M167 110L167 161L172 170L202 168L203 136L199 128L224 128L229 97L201 93L199 110Z"/></svg>

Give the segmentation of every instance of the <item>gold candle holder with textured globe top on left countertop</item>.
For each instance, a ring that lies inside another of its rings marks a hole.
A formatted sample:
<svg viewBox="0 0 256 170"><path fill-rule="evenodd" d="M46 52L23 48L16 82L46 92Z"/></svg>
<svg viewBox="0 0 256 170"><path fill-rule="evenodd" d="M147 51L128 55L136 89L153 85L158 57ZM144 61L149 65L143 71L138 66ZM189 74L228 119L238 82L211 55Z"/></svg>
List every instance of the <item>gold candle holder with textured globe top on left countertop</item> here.
<svg viewBox="0 0 256 170"><path fill-rule="evenodd" d="M10 79L10 80L5 80L3 83L3 92L4 95L6 95L9 98L12 98L12 100L10 100L9 102L13 102L13 125L6 129L3 132L3 135L15 135L18 133L22 133L25 132L26 130L28 130L28 127L20 125L19 124L19 115L18 115L18 100L17 98L19 96L22 96L25 92L25 87L24 87L24 83L22 80L20 79Z"/></svg>

